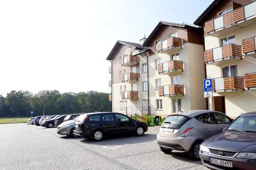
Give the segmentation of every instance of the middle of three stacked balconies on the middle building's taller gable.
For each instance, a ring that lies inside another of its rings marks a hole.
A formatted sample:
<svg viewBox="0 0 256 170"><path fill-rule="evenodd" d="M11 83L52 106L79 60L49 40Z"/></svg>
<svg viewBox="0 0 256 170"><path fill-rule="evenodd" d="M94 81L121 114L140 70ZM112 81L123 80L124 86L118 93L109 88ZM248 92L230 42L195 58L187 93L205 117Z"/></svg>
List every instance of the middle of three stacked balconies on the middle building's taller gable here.
<svg viewBox="0 0 256 170"><path fill-rule="evenodd" d="M158 64L158 74L169 75L184 70L183 61L172 60Z"/></svg>

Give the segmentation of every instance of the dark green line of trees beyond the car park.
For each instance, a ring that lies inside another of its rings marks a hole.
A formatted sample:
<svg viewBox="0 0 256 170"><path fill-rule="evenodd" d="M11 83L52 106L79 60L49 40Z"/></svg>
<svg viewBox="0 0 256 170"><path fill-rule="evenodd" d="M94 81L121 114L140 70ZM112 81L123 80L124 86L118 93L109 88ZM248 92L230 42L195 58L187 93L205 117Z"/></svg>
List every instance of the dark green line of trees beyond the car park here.
<svg viewBox="0 0 256 170"><path fill-rule="evenodd" d="M42 90L36 94L29 91L12 90L6 97L0 95L0 116L19 117L34 114L45 115L89 113L95 111L111 111L109 93L88 92L65 92L57 90Z"/></svg>

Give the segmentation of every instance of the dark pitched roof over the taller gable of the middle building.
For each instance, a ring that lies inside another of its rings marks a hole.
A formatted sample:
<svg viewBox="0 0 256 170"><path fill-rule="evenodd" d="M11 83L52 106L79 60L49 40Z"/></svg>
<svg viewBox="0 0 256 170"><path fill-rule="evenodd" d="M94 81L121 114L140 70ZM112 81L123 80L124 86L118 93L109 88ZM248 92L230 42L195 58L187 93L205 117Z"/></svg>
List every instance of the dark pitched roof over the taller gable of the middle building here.
<svg viewBox="0 0 256 170"><path fill-rule="evenodd" d="M179 28L194 28L198 29L201 28L199 26L190 25L189 23L174 23L174 22L166 22L166 21L159 21L158 25L155 27L155 29L152 31L152 33L147 37L145 42L143 43L144 46L149 46L152 39L157 35L157 33L164 27L164 26L173 26L173 27L179 27Z"/></svg>

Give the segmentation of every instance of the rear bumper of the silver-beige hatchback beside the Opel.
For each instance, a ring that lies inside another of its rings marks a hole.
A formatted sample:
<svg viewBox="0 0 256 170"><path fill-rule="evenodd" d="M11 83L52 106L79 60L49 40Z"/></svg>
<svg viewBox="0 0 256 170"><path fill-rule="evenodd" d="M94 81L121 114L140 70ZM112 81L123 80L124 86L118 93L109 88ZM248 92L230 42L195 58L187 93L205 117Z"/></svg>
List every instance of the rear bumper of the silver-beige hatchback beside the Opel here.
<svg viewBox="0 0 256 170"><path fill-rule="evenodd" d="M160 147L177 151L188 152L194 141L195 139L193 136L171 138L160 136L159 134L157 134L157 143Z"/></svg>

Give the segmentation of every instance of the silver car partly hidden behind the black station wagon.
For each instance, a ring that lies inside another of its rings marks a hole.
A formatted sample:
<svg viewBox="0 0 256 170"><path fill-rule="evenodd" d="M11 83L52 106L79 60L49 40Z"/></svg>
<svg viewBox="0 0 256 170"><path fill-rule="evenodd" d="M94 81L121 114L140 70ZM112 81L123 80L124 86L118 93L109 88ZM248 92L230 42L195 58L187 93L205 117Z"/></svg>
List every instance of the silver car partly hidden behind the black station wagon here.
<svg viewBox="0 0 256 170"><path fill-rule="evenodd" d="M76 135L74 134L74 128L75 128L75 122L77 118L78 117L60 124L57 127L57 134L66 135L69 137L76 137Z"/></svg>

